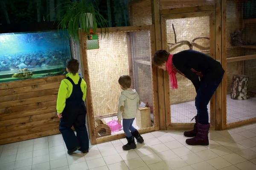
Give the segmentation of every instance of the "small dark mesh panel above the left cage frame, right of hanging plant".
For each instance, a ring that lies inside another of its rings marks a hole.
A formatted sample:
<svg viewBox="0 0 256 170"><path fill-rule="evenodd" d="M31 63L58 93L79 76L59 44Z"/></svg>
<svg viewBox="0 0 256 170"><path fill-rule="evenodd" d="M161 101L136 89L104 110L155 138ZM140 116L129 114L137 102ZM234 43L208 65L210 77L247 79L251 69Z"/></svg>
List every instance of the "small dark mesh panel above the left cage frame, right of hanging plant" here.
<svg viewBox="0 0 256 170"><path fill-rule="evenodd" d="M143 26L152 24L151 0L143 0L129 8L130 25Z"/></svg>

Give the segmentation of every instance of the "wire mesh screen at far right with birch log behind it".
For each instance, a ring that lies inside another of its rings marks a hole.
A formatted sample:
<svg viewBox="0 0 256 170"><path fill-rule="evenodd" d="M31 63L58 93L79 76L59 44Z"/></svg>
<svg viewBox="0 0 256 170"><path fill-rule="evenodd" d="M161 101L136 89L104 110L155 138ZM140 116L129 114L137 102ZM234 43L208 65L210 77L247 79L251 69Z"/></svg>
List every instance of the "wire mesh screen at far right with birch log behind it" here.
<svg viewBox="0 0 256 170"><path fill-rule="evenodd" d="M227 1L226 30L229 124L256 117L256 1Z"/></svg>

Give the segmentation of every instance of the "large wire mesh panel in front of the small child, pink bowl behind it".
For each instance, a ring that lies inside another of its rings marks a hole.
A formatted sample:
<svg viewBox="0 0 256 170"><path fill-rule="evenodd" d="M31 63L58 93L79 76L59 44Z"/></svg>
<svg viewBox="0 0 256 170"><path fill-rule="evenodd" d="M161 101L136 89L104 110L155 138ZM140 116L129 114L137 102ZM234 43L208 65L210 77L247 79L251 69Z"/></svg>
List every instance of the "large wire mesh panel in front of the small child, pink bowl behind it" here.
<svg viewBox="0 0 256 170"><path fill-rule="evenodd" d="M108 38L99 40L99 46L99 49L87 50L96 138L123 133L122 121L121 125L117 124L118 99L122 91L118 79L123 74L131 77L131 88L137 90L141 100L133 126L136 129L151 127L149 31L109 33Z"/></svg>

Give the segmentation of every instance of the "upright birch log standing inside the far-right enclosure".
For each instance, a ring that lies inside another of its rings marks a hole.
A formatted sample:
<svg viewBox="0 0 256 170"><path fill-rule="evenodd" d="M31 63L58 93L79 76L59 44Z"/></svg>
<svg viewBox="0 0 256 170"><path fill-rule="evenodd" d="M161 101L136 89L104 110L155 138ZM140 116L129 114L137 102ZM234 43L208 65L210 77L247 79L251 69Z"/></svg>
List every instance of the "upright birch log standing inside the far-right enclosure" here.
<svg viewBox="0 0 256 170"><path fill-rule="evenodd" d="M247 88L248 88L249 77L246 75L234 75L233 83L231 87L231 99L245 100L248 99Z"/></svg>

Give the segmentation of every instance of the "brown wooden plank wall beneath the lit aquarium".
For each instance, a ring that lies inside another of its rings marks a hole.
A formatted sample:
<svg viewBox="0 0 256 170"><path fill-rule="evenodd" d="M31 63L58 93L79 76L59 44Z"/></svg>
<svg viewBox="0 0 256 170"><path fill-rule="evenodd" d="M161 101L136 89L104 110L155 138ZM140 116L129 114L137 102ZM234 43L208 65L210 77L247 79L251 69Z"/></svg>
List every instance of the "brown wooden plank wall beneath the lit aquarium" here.
<svg viewBox="0 0 256 170"><path fill-rule="evenodd" d="M0 84L0 144L60 133L56 100L65 76Z"/></svg>

